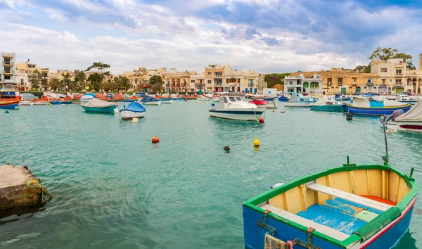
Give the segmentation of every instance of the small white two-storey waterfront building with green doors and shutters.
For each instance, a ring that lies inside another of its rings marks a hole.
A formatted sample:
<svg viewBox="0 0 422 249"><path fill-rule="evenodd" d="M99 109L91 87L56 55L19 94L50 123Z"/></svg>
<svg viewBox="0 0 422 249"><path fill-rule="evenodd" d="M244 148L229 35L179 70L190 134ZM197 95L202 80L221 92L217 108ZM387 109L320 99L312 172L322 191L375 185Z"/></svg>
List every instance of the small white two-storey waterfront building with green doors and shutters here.
<svg viewBox="0 0 422 249"><path fill-rule="evenodd" d="M321 75L314 73L312 77L304 74L284 77L284 91L292 93L323 94Z"/></svg>

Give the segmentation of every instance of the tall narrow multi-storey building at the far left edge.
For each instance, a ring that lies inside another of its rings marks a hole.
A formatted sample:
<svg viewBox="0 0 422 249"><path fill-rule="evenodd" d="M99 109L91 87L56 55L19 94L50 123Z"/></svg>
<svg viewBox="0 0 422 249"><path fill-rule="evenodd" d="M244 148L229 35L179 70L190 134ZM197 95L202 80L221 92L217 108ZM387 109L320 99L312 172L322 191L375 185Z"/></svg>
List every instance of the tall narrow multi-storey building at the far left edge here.
<svg viewBox="0 0 422 249"><path fill-rule="evenodd" d="M15 53L1 53L1 87L3 91L15 91L16 76Z"/></svg>

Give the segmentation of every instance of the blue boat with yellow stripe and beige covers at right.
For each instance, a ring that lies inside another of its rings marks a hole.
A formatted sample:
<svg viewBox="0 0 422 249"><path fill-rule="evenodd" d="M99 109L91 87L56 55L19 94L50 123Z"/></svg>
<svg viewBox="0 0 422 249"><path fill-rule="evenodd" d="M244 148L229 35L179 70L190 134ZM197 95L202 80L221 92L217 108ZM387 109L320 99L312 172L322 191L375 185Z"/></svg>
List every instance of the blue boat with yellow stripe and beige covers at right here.
<svg viewBox="0 0 422 249"><path fill-rule="evenodd" d="M410 110L410 104L383 99L382 101L369 101L359 96L353 97L352 104L346 104L345 113L357 115L392 115L395 110Z"/></svg>

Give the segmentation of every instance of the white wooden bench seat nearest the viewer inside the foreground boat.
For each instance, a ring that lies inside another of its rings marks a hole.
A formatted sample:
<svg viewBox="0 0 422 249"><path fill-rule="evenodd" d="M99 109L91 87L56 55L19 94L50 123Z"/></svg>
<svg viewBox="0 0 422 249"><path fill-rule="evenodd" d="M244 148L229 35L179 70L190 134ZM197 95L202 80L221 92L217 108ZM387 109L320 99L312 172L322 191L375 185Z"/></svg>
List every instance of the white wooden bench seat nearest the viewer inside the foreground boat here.
<svg viewBox="0 0 422 249"><path fill-rule="evenodd" d="M279 215L280 217L289 219L292 222L296 222L302 226L305 227L312 227L315 229L315 231L319 231L321 234L326 234L328 236L331 236L332 238L338 239L339 241L344 241L346 238L348 238L350 235L344 234L340 231L337 231L335 229L332 229L329 226L324 226L322 224L318 224L316 222L313 222L312 220L300 217L298 215L292 214L290 212L281 210L280 208L276 208L274 206L269 205L268 203L264 203L260 205L260 208L264 210L270 210L276 215Z"/></svg>

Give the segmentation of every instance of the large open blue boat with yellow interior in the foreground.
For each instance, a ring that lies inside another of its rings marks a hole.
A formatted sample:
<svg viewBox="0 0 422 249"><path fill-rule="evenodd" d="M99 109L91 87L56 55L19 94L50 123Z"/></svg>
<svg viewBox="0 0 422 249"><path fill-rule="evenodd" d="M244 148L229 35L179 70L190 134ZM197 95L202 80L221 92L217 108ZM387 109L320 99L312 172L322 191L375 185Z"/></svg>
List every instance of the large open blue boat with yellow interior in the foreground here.
<svg viewBox="0 0 422 249"><path fill-rule="evenodd" d="M418 185L386 158L383 165L347 158L245 201L245 248L392 248L409 228Z"/></svg>

